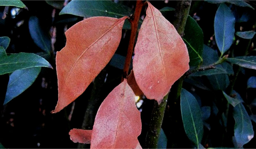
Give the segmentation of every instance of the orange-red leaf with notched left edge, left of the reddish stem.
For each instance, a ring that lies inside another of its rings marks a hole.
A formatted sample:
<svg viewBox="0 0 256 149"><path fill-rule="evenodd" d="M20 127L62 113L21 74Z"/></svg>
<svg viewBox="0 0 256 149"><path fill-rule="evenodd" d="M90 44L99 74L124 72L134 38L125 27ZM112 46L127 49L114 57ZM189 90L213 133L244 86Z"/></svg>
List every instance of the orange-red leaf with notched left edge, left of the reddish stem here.
<svg viewBox="0 0 256 149"><path fill-rule="evenodd" d="M56 55L59 100L52 113L81 95L108 64L120 43L126 18L92 17L66 31L66 46Z"/></svg>

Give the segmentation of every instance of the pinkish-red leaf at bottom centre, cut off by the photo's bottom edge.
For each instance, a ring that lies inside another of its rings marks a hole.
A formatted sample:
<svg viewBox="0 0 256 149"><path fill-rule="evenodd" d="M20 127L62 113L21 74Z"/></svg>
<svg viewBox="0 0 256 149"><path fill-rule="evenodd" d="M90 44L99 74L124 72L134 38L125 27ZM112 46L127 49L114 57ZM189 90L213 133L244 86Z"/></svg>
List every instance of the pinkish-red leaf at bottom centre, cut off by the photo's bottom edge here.
<svg viewBox="0 0 256 149"><path fill-rule="evenodd" d="M141 132L140 112L127 80L100 105L92 129L91 148L135 148Z"/></svg>

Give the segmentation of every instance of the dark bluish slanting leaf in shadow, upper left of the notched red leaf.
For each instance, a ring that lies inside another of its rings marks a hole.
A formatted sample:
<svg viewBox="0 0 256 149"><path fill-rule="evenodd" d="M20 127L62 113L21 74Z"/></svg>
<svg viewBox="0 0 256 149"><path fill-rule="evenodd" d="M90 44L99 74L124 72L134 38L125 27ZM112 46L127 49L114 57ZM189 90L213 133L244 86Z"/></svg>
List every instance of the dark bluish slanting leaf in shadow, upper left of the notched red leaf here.
<svg viewBox="0 0 256 149"><path fill-rule="evenodd" d="M40 26L40 21L36 16L31 16L28 20L29 33L36 45L50 54L52 42L50 36Z"/></svg>

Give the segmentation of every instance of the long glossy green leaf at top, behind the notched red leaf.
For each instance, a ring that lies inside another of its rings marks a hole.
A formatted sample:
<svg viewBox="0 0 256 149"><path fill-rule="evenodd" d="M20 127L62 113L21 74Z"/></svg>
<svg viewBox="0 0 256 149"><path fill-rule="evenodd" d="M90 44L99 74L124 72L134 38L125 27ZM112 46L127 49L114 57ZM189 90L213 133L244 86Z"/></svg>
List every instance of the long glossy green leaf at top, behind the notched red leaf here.
<svg viewBox="0 0 256 149"><path fill-rule="evenodd" d="M130 16L132 9L114 3L113 1L71 1L61 11L62 14L72 14L80 17L105 16L113 18L122 18ZM128 20L124 21L124 29L130 29L131 25Z"/></svg>

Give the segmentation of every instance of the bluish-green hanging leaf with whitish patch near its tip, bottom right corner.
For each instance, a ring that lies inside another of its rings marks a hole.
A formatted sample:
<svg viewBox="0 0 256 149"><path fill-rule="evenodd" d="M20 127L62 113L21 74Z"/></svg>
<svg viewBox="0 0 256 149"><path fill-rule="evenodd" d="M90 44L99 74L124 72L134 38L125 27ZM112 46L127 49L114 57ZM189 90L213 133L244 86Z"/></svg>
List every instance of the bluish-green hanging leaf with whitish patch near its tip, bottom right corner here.
<svg viewBox="0 0 256 149"><path fill-rule="evenodd" d="M233 117L235 119L234 137L238 148L242 148L254 136L251 119L242 103L234 107Z"/></svg>

